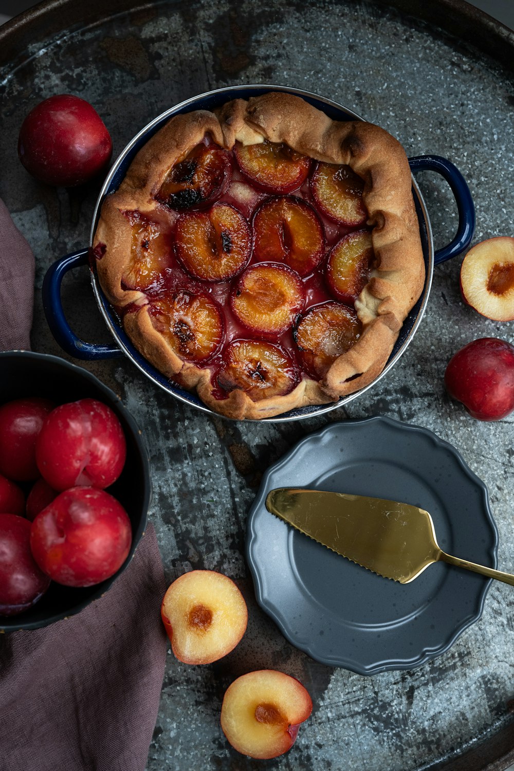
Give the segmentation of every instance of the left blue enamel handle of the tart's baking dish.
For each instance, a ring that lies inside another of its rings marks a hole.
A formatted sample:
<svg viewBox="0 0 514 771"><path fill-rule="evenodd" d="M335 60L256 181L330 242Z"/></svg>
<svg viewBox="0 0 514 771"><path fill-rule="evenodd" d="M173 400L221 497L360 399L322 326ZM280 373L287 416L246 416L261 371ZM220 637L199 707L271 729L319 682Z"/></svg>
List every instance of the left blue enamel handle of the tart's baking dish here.
<svg viewBox="0 0 514 771"><path fill-rule="evenodd" d="M111 345L94 345L81 340L69 327L61 301L61 284L64 275L73 268L89 265L89 249L74 251L55 261L43 279L42 298L46 321L50 331L63 351L76 359L112 359L123 356L123 351Z"/></svg>

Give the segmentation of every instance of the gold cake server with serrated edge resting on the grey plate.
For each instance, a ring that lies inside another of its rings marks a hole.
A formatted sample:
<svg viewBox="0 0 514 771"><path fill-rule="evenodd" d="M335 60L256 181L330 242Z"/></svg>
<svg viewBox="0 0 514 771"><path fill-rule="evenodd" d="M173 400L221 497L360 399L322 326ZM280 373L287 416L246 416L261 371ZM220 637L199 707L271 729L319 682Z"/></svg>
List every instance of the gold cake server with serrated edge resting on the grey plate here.
<svg viewBox="0 0 514 771"><path fill-rule="evenodd" d="M401 584L444 561L514 586L514 575L445 554L428 511L409 503L281 487L268 493L266 507L319 544Z"/></svg>

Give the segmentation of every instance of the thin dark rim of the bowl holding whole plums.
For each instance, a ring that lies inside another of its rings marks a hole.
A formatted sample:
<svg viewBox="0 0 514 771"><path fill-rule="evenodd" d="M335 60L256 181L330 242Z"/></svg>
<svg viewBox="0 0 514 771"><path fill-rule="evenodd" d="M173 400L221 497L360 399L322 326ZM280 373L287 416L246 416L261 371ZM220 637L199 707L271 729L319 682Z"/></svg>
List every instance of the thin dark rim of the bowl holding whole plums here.
<svg viewBox="0 0 514 771"><path fill-rule="evenodd" d="M126 424L129 426L132 437L136 443L136 447L139 452L139 457L143 465L144 488L143 488L142 516L141 516L141 519L139 520L138 527L136 527L136 530L133 530L132 544L130 544L129 554L126 557L126 560L124 561L123 565L119 567L116 573L110 576L109 578L106 578L105 581L102 581L101 583L97 584L97 588L94 591L92 591L92 594L89 594L86 599L82 599L82 601L78 602L75 605L72 605L71 608L66 609L66 611L55 613L49 616L49 618L45 618L44 620L40 619L39 621L24 622L22 620L23 614L0 617L0 634L4 632L21 631L22 629L33 630L33 629L39 629L39 628L49 626L55 623L55 621L61 621L63 618L69 618L70 616L73 616L79 613L84 608L86 608L89 604L91 604L92 601L98 600L99 598L103 597L103 595L106 594L106 591L109 591L114 581L116 581L116 578L123 573L126 567L128 567L130 562L133 560L134 554L136 554L136 548L139 546L139 543L141 542L145 534L145 530L148 524L148 510L149 510L149 505L152 498L152 477L150 476L149 453L148 453L148 450L146 449L146 444L144 443L144 440L143 440L143 433L141 432L141 429L139 429L139 426L137 425L136 420L133 418L133 416L126 408L126 406L123 404L122 399L120 396L118 396L118 394L116 394L112 389L110 389L109 386L106 385L104 382L99 380L96 377L96 375L93 375L92 372L89 372L88 369L84 369L83 367L80 367L79 365L69 362L66 359L61 359L60 356L55 356L49 353L40 353L36 351L26 351L26 350L19 349L19 350L13 350L13 351L0 352L0 366L2 365L2 360L5 360L5 359L33 359L34 361L45 360L45 361L53 362L55 363L55 365L62 366L63 369L69 369L72 372L75 372L76 374L83 377L86 380L86 382L89 382L92 385L95 385L97 388L100 389L100 391L105 393L106 397L109 399L108 406L114 409L115 412L116 410L118 410L119 413L123 416L123 419L126 421ZM32 607L37 607L37 606L34 605ZM30 611L31 609L32 608L29 608L28 610Z"/></svg>

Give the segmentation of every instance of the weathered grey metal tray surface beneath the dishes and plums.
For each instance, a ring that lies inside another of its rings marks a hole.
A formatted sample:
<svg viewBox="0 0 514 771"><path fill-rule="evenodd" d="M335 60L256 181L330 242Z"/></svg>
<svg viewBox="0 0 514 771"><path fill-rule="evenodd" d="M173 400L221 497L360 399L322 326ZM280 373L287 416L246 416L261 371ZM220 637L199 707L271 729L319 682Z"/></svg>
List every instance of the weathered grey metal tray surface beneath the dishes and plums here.
<svg viewBox="0 0 514 771"><path fill-rule="evenodd" d="M22 118L52 93L92 102L113 134L115 156L150 118L217 86L275 82L321 93L384 126L409 155L453 160L475 198L475 241L512 235L511 76L395 11L350 0L160 4L63 35L44 49L34 42L30 53L15 71L0 72L0 196L35 251L35 350L62 355L39 290L55 258L87 243L98 189L50 190L18 163ZM451 197L426 175L422 190L436 246L442 246L455 230ZM257 608L244 562L246 514L263 470L330 421L381 414L432 429L460 450L489 487L499 567L514 569L512 416L477 423L449 401L442 382L457 348L483 336L512 341L514 326L490 322L462 304L459 263L436 269L424 321L395 369L346 409L318 419L276 426L210 419L173 401L125 359L84 365L119 392L143 428L153 465L150 516L166 577L191 567L223 571L237 581L250 611L244 641L221 662L187 667L170 654L148 771L429 769L509 721L514 595L505 585L492 586L482 619L447 654L412 672L362 678L292 648ZM64 295L76 332L107 341L86 271L66 279ZM239 756L220 732L224 690L254 668L296 676L314 701L296 745L276 761Z"/></svg>

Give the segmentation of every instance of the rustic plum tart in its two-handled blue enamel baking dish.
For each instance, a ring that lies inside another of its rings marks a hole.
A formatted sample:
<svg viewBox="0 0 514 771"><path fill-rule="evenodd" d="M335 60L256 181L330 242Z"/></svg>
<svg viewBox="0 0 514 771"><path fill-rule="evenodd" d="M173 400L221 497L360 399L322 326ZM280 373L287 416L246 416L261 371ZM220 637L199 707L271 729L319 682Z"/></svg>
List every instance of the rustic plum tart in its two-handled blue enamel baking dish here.
<svg viewBox="0 0 514 771"><path fill-rule="evenodd" d="M462 252L475 222L452 163L400 157L386 134L284 86L231 86L166 110L114 163L90 243L45 276L55 338L79 359L126 355L176 399L232 419L299 419L356 398L405 352L435 264ZM425 170L459 210L438 251L412 176ZM66 321L62 278L80 265L113 345L80 340Z"/></svg>

